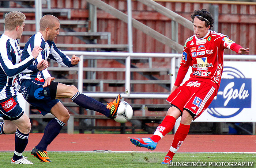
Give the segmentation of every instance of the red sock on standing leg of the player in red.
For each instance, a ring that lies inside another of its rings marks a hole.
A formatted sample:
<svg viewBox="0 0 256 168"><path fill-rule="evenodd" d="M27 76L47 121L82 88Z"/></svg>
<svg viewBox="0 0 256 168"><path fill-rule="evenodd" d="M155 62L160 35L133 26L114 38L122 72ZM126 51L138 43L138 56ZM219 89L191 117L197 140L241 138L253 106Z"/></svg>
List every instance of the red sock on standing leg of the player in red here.
<svg viewBox="0 0 256 168"><path fill-rule="evenodd" d="M173 142L172 142L172 145L170 147L170 150L169 150L169 152L167 153L166 156L170 156L171 158L173 158L173 156L178 151L181 144L183 143L183 141L187 137L188 132L189 132L189 128L190 128L190 125L180 124L180 126L178 127L178 129L177 129L177 131L174 135Z"/></svg>

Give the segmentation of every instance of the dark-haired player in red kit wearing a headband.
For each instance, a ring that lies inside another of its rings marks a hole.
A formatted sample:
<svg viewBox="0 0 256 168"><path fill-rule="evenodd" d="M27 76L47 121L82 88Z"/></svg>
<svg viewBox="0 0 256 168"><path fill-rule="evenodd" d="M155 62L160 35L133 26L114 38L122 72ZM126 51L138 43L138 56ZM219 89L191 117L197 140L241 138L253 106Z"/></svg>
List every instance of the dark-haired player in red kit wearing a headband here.
<svg viewBox="0 0 256 168"><path fill-rule="evenodd" d="M187 137L192 120L207 109L217 95L223 70L224 49L229 48L238 54L246 54L249 48L243 48L229 39L228 36L211 30L214 19L206 9L195 10L192 15L194 35L187 39L182 53L180 69L166 99L171 107L166 117L149 138L131 138L132 144L148 149L155 149L157 142L169 133L178 117L181 116L169 152L162 164L170 164L174 154ZM189 66L192 73L182 86Z"/></svg>

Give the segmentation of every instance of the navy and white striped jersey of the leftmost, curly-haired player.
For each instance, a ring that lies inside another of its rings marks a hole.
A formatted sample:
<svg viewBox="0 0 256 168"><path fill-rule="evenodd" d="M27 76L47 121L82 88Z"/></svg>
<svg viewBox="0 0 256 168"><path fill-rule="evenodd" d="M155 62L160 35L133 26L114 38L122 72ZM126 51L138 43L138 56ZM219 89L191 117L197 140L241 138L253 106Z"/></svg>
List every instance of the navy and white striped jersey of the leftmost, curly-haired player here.
<svg viewBox="0 0 256 168"><path fill-rule="evenodd" d="M36 71L35 66L31 66L34 57L31 55L20 62L21 53L18 40L14 40L7 35L0 36L0 99L5 99L16 95L15 83L16 75L25 72Z"/></svg>

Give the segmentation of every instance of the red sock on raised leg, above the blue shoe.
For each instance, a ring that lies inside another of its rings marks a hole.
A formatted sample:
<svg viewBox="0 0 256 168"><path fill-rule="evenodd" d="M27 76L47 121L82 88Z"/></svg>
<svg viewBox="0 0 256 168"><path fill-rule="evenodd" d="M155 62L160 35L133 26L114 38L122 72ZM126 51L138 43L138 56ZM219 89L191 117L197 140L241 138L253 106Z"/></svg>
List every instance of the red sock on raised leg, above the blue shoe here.
<svg viewBox="0 0 256 168"><path fill-rule="evenodd" d="M159 140L161 140L162 137L164 137L173 129L175 122L175 117L166 116L165 119L163 119L162 123L155 130L154 135L150 137L150 139L154 142L158 142Z"/></svg>

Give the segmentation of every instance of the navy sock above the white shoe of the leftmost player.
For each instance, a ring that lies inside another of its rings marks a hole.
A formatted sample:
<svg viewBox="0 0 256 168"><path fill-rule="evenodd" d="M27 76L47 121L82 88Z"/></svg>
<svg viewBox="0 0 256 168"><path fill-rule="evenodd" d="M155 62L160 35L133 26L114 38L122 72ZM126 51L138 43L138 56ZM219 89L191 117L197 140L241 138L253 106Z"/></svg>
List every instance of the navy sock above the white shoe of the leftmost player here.
<svg viewBox="0 0 256 168"><path fill-rule="evenodd" d="M12 159L19 160L22 158L22 153L24 152L27 146L27 143L29 142L29 133L23 134L19 131L19 129L17 129L14 140L15 140L15 151Z"/></svg>

